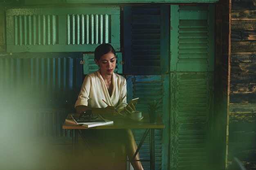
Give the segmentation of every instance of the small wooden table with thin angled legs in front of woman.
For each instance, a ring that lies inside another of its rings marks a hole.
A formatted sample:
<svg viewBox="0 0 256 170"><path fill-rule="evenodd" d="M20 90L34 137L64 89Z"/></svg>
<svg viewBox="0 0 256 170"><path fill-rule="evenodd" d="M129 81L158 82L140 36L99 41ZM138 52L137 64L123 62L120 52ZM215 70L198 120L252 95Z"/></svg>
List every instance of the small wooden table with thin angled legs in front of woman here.
<svg viewBox="0 0 256 170"><path fill-rule="evenodd" d="M77 114L68 114L67 119L71 119L71 115L77 115ZM109 120L113 120L113 124L108 124L104 126L96 126L91 128L86 128L84 126L79 126L76 124L72 124L69 122L64 122L62 129L73 129L74 130L74 138L75 138L75 144L77 142L77 135L78 133L81 134L81 130L83 129L146 129L143 137L141 138L141 141L139 143L139 146L137 147L137 150L133 156L133 159L139 152L139 149L141 148L141 145L143 144L146 136L148 135L148 132L150 132L149 138L149 150L150 150L150 169L155 170L155 129L164 129L164 123L160 117L157 118L156 123L150 123L148 119L148 113L143 113L142 116L144 118L142 120L136 121L130 119L128 116L124 117L118 117L118 118L108 118ZM87 139L81 135L85 143L89 146L89 143ZM90 149L90 147L89 147ZM92 152L92 150L90 150ZM139 160L140 161L140 160Z"/></svg>

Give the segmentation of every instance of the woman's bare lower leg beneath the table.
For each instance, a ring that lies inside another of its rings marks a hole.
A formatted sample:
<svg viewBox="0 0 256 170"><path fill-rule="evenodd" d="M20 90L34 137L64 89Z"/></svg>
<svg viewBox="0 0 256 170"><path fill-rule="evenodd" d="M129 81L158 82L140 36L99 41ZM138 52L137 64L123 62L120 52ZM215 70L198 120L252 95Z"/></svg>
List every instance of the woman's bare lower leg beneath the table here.
<svg viewBox="0 0 256 170"><path fill-rule="evenodd" d="M132 161L132 157L137 150L137 144L135 142L133 133L130 129L126 129L126 139L124 139L124 144L126 145L126 152L129 160L131 160L131 164L135 170L143 170L140 161ZM139 160L139 153L134 158L135 160Z"/></svg>

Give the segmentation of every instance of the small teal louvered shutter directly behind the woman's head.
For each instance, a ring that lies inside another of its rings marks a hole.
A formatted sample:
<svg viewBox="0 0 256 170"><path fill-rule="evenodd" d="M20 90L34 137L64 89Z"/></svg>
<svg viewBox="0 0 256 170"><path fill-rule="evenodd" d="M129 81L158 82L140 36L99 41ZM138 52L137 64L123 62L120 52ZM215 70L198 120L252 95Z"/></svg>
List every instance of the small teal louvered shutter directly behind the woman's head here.
<svg viewBox="0 0 256 170"><path fill-rule="evenodd" d="M123 73L123 65L122 63L122 53L117 52L117 64L116 64L116 69L115 73L121 74ZM95 64L94 62L94 54L93 53L88 53L88 54L83 54L83 74L90 74L92 72L95 72L99 70L98 65Z"/></svg>

